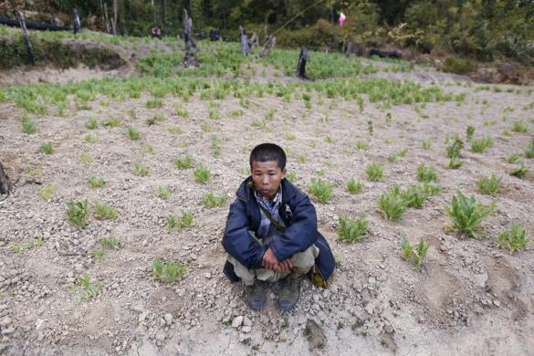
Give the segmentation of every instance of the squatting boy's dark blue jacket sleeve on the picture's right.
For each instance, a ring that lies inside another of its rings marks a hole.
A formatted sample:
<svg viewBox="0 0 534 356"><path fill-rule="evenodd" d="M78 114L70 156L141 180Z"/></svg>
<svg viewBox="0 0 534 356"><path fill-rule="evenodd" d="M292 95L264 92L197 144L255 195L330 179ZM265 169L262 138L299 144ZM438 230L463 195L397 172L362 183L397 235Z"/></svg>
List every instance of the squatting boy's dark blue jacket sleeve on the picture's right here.
<svg viewBox="0 0 534 356"><path fill-rule="evenodd" d="M317 231L317 213L315 207L305 194L298 194L298 203L293 211L293 224L289 225L284 235L277 238L270 248L279 261L306 250L319 236Z"/></svg>

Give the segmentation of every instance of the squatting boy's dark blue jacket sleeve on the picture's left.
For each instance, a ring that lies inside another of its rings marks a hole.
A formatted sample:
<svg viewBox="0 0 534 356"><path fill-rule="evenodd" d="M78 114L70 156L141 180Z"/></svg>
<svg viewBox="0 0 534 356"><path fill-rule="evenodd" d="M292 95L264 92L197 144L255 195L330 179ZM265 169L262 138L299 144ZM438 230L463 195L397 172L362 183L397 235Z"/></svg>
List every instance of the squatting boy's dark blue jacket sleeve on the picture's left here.
<svg viewBox="0 0 534 356"><path fill-rule="evenodd" d="M236 199L234 203L230 204L223 246L226 252L236 258L239 263L248 269L256 269L261 267L265 249L257 245L256 240L248 231L246 203Z"/></svg>

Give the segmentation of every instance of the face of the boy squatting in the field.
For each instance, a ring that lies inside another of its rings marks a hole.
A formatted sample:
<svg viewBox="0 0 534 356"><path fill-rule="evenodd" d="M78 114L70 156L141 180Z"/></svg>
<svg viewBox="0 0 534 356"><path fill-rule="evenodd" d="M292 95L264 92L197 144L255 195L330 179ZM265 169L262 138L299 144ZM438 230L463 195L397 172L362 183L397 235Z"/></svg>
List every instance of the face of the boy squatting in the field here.
<svg viewBox="0 0 534 356"><path fill-rule="evenodd" d="M252 180L257 191L268 200L273 200L277 194L282 179L286 176L286 169L283 171L278 167L278 162L252 162Z"/></svg>

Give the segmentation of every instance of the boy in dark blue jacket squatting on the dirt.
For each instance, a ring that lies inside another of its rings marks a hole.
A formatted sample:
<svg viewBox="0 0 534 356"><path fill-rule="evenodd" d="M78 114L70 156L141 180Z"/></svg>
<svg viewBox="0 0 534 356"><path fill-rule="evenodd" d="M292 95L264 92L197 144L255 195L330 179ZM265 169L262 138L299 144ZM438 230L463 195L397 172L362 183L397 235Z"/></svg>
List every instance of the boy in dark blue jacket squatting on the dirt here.
<svg viewBox="0 0 534 356"><path fill-rule="evenodd" d="M231 281L242 281L251 309L262 309L267 288L279 281L278 307L298 302L300 281L310 274L327 288L335 260L317 230L315 207L307 194L286 179L286 153L274 143L257 145L249 158L251 176L240 184L230 205L223 246Z"/></svg>

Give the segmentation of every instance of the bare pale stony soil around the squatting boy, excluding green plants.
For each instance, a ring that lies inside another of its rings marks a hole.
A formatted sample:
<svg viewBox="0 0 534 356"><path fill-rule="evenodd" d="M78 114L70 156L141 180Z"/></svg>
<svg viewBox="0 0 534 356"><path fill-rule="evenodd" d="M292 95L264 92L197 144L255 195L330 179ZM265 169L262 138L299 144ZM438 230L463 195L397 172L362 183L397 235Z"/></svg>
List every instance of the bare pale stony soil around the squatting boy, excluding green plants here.
<svg viewBox="0 0 534 356"><path fill-rule="evenodd" d="M0 103L0 161L16 188L0 203L0 354L533 355L534 246L514 255L496 246L511 221L534 235L534 175L510 176L514 165L503 160L525 152L533 138L533 88L487 90L417 70L377 76L433 83L445 92L466 93L466 99L391 110L365 102L360 112L354 101L320 102L315 95L311 109L302 99L287 103L266 96L243 108L239 99L227 98L214 100L220 104L220 119L214 120L198 95L188 103L167 97L162 108L147 109L145 93L124 102L99 98L90 110L71 107L67 118L32 116L34 135L21 131L22 112L15 104ZM188 118L177 116L177 103ZM232 114L236 109L243 113ZM251 125L273 109L267 127ZM156 113L166 120L148 126L145 120ZM85 127L89 117L99 121L93 131ZM122 118L120 127L104 127L102 120L110 117ZM526 133L511 130L516 120L527 125ZM465 138L467 125L475 127L475 138L493 137L494 145L474 153L467 144L464 165L447 169L445 138ZM139 141L128 138L128 126L141 131ZM169 130L177 126L181 130ZM98 142L84 141L88 133ZM213 154L215 136L219 157ZM53 154L40 151L44 141L53 143ZM267 308L255 312L247 309L242 288L222 274L227 204L246 178L248 152L264 141L286 149L288 172L297 173L303 191L314 177L336 185L329 204L315 203L319 231L339 260L331 287L305 281L297 308L284 315L276 307L276 286ZM431 143L428 149L424 141ZM358 150L356 142L368 149ZM404 148L404 157L388 160ZM80 162L82 152L93 161ZM175 168L175 158L185 153L195 166L211 170L209 183L195 183L194 168ZM520 161L534 170L533 160ZM134 162L146 164L148 175L135 175ZM366 180L370 162L383 164L381 182ZM379 196L395 183L417 183L423 162L435 167L442 192L397 222L384 220ZM491 174L502 178L501 192L479 194L476 180ZM90 175L106 184L89 188ZM344 189L350 177L364 183L361 194ZM49 202L39 196L45 184L54 187ZM157 196L163 185L171 191L167 200ZM483 223L487 238L462 238L445 228L445 208L457 190L484 204L497 202L497 212ZM210 191L227 194L227 204L204 207ZM91 217L84 229L70 225L67 203L84 198L110 204L118 217ZM165 218L183 211L194 214L194 226L169 233ZM360 243L341 243L341 215L365 215L369 235ZM431 244L421 270L401 257L402 235ZM37 236L42 246L14 248ZM117 236L121 248L103 259L92 257L103 236ZM155 257L183 263L185 274L174 284L152 280ZM84 273L102 287L97 298L79 301L77 282Z"/></svg>

